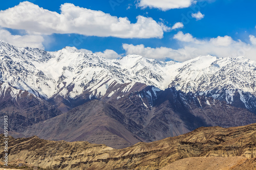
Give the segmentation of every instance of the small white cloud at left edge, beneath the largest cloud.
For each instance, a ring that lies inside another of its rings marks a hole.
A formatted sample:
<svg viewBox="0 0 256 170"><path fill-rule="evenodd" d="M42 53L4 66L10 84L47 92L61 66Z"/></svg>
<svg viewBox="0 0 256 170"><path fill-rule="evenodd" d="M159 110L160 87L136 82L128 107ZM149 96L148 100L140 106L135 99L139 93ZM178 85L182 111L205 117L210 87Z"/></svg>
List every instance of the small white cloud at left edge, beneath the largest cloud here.
<svg viewBox="0 0 256 170"><path fill-rule="evenodd" d="M44 49L44 37L40 35L12 35L9 31L0 29L0 40L20 47L35 47Z"/></svg>

